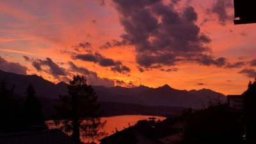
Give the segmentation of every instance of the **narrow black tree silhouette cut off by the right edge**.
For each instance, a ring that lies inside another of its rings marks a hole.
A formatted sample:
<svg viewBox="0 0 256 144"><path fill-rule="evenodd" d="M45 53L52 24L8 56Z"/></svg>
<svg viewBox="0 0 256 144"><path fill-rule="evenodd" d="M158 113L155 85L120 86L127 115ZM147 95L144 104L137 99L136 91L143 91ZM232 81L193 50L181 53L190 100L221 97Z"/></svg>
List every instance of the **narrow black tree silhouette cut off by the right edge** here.
<svg viewBox="0 0 256 144"><path fill-rule="evenodd" d="M246 125L246 141L256 143L256 79L248 84L248 89L242 94L244 122Z"/></svg>

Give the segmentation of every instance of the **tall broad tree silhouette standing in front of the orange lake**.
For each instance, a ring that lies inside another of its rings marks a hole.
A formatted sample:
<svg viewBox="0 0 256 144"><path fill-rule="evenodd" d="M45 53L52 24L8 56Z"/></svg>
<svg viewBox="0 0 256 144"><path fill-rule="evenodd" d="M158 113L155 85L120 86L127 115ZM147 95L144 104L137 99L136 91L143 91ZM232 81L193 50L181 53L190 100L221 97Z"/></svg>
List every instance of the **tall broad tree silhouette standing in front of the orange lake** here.
<svg viewBox="0 0 256 144"><path fill-rule="evenodd" d="M100 104L91 85L86 84L83 76L74 76L68 85L68 95L60 96L61 106L56 106L56 123L65 132L80 141L80 135L88 141L104 136L102 128L106 124L100 120ZM62 119L62 120L61 120Z"/></svg>

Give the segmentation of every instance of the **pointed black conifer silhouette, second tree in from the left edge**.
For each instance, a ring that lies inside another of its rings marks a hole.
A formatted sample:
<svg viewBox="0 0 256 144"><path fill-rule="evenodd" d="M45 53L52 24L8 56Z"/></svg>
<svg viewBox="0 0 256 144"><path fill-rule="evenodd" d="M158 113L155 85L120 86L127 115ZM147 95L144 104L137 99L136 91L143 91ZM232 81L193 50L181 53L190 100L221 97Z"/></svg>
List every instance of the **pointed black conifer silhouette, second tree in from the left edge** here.
<svg viewBox="0 0 256 144"><path fill-rule="evenodd" d="M36 97L32 84L29 84L26 90L26 100L22 109L22 119L26 127L45 126L42 105Z"/></svg>

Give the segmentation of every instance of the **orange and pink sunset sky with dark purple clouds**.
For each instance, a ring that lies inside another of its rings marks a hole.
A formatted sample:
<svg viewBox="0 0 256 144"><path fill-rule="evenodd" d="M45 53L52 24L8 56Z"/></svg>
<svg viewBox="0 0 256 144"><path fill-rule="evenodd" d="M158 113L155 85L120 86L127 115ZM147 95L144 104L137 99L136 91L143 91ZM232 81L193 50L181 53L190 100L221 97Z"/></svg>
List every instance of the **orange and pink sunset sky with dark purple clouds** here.
<svg viewBox="0 0 256 144"><path fill-rule="evenodd" d="M256 76L256 24L233 20L232 0L0 0L0 69L241 94Z"/></svg>

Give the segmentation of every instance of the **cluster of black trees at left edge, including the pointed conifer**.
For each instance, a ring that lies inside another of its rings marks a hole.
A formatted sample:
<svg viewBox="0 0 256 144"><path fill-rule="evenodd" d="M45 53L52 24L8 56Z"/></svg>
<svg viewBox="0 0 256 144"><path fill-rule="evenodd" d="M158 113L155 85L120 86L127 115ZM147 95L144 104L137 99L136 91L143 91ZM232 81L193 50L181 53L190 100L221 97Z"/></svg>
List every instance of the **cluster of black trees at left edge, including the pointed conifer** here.
<svg viewBox="0 0 256 144"><path fill-rule="evenodd" d="M47 128L33 86L29 84L26 99L15 97L14 88L8 89L5 81L0 82L0 133Z"/></svg>

